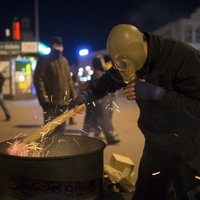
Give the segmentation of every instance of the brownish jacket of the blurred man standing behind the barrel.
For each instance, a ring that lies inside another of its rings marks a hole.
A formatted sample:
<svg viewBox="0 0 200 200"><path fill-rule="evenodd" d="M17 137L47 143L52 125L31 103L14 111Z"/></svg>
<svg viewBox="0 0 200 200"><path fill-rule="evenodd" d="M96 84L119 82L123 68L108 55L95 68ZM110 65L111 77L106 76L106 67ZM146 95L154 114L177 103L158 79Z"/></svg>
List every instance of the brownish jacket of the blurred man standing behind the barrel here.
<svg viewBox="0 0 200 200"><path fill-rule="evenodd" d="M73 80L67 59L62 56L41 56L34 72L34 84L41 105L68 105L74 97Z"/></svg>

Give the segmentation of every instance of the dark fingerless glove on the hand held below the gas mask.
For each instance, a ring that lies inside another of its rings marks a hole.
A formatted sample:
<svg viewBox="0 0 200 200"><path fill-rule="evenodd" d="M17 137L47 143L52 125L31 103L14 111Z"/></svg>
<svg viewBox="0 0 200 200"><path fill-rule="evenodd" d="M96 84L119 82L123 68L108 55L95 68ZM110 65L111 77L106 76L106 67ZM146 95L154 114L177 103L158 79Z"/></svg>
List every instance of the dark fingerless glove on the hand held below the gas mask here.
<svg viewBox="0 0 200 200"><path fill-rule="evenodd" d="M138 82L135 85L136 99L143 100L159 100L161 96L165 93L165 89L153 85L149 82Z"/></svg>

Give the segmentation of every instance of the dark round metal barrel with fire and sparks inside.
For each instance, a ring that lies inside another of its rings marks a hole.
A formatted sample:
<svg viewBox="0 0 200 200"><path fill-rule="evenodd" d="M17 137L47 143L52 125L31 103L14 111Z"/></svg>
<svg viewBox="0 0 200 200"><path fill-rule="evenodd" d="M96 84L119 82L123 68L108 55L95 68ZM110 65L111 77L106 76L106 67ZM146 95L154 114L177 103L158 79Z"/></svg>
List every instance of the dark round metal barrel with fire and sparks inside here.
<svg viewBox="0 0 200 200"><path fill-rule="evenodd" d="M41 157L8 155L9 142L0 143L0 199L103 199L103 141L53 136L44 143Z"/></svg>

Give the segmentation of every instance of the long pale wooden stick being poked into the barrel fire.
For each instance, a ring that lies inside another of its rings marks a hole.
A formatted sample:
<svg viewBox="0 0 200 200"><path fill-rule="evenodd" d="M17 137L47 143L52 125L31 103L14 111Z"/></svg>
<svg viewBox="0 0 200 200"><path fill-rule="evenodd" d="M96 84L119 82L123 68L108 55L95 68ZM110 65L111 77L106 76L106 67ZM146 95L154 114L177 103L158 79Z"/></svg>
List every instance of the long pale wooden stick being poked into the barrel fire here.
<svg viewBox="0 0 200 200"><path fill-rule="evenodd" d="M85 104L82 104L76 108L76 110L81 110L85 107ZM46 125L44 125L40 130L31 133L30 135L27 135L25 138L23 138L23 142L30 143L37 140L40 140L44 136L46 136L48 133L50 133L52 130L54 130L57 126L68 120L70 117L75 116L77 113L75 112L74 108L72 108L69 111L64 112L62 115L56 117L52 121L48 122Z"/></svg>

